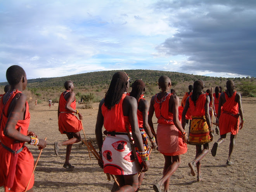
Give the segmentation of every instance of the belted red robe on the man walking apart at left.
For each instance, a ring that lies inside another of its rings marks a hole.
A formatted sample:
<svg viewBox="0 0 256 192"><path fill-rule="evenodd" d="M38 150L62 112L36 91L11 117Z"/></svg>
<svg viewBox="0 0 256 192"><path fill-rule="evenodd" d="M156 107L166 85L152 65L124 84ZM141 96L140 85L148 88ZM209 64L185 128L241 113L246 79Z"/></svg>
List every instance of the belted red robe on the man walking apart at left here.
<svg viewBox="0 0 256 192"><path fill-rule="evenodd" d="M72 112L65 108L66 103L63 92L59 99L59 131L61 134L77 133L83 129L82 123ZM71 103L70 107L76 110L76 99Z"/></svg>

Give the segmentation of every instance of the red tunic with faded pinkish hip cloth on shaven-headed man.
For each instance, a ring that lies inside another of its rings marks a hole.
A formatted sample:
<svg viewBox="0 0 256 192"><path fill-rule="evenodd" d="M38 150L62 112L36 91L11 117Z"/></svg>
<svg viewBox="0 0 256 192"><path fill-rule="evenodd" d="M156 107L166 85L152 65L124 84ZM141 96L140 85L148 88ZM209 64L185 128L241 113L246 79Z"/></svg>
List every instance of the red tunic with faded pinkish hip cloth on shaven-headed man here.
<svg viewBox="0 0 256 192"><path fill-rule="evenodd" d="M161 101L157 97L158 94L155 96L154 103L157 123L159 123L157 126L158 149L166 156L182 155L187 152L187 144L183 143L182 133L173 123L173 113L169 112L169 100L172 94L168 93Z"/></svg>

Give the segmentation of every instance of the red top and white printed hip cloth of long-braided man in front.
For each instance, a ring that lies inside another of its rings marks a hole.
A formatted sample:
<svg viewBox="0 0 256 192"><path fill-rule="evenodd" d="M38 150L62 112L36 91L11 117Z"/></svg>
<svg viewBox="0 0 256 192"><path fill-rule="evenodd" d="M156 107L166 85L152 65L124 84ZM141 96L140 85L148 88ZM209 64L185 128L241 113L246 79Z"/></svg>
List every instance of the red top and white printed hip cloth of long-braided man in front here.
<svg viewBox="0 0 256 192"><path fill-rule="evenodd" d="M107 131L126 132L128 126L131 132L131 125L128 116L123 115L123 94L118 104L108 110L105 104L101 111L104 117L104 127ZM104 162L104 173L112 175L131 175L140 171L140 164L135 161L132 153L128 135L107 135L102 145L102 159Z"/></svg>

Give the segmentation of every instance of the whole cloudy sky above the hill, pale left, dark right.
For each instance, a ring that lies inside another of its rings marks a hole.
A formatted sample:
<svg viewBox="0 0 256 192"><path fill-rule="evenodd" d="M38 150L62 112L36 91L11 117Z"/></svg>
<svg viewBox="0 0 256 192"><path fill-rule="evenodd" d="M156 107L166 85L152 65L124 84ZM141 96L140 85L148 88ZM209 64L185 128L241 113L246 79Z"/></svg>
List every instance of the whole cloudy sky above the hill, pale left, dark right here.
<svg viewBox="0 0 256 192"><path fill-rule="evenodd" d="M0 0L0 82L151 69L256 76L255 0Z"/></svg>

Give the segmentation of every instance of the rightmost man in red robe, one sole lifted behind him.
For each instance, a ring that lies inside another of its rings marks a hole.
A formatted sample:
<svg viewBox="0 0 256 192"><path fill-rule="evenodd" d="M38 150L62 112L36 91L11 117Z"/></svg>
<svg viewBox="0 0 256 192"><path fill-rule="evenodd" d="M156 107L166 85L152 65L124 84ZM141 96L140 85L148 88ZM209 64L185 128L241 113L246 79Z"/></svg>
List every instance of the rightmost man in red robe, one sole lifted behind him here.
<svg viewBox="0 0 256 192"><path fill-rule="evenodd" d="M228 80L227 91L221 93L220 102L218 106L218 119L220 127L220 138L214 143L211 149L212 156L216 156L218 146L223 143L227 137L227 133L230 134L230 145L229 153L226 164L232 165L231 155L235 145L235 137L238 133L239 126L240 129L244 125L244 114L242 109L242 99L239 92L234 90L235 83L232 80ZM221 109L222 107L222 109ZM239 122L239 116L241 118L241 123ZM239 125L240 123L240 125Z"/></svg>

